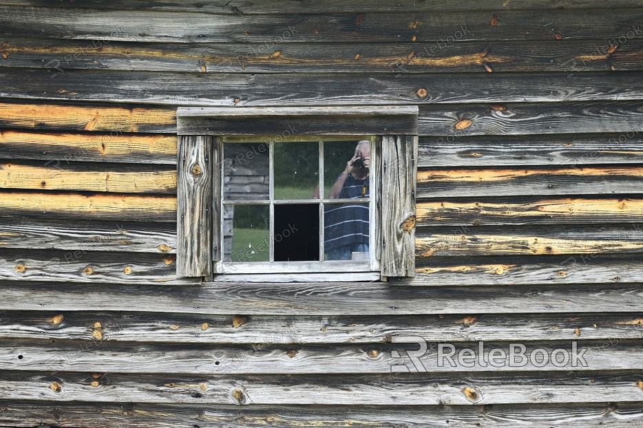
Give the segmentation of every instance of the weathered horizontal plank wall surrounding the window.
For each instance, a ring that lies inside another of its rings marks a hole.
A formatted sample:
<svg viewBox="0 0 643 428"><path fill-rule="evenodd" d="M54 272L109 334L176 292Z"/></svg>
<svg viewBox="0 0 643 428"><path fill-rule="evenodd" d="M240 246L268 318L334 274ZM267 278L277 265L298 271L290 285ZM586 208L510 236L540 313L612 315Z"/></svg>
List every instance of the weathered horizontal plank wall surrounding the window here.
<svg viewBox="0 0 643 428"><path fill-rule="evenodd" d="M0 425L643 425L641 23L624 0L0 0ZM364 103L420 106L417 277L176 276L176 107ZM401 334L600 352L392 374Z"/></svg>

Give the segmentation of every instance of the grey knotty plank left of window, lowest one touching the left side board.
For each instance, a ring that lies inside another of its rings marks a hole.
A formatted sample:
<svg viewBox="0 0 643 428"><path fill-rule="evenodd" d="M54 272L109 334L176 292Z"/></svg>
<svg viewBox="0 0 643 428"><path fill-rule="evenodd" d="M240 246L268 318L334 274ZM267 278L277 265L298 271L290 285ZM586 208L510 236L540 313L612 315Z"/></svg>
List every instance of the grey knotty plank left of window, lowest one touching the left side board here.
<svg viewBox="0 0 643 428"><path fill-rule="evenodd" d="M187 285L196 278L176 276L176 255L101 253L76 250L0 250L0 280Z"/></svg>

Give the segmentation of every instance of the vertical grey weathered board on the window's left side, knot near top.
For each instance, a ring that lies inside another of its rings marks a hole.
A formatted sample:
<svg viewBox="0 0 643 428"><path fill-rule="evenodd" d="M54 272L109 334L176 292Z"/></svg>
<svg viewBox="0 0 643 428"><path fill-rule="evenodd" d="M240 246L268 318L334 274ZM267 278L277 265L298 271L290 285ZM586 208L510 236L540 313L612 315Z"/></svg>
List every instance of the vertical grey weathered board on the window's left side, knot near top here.
<svg viewBox="0 0 643 428"><path fill-rule="evenodd" d="M209 277L212 273L212 180L215 139L178 138L176 275ZM218 151L216 151L218 153Z"/></svg>

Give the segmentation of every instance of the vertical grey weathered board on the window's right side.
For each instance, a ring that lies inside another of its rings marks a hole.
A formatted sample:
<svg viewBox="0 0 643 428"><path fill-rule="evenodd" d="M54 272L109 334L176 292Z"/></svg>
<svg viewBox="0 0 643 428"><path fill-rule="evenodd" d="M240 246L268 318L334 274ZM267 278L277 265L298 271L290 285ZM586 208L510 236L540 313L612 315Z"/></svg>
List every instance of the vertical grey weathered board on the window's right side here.
<svg viewBox="0 0 643 428"><path fill-rule="evenodd" d="M415 275L417 136L382 137L381 275Z"/></svg>

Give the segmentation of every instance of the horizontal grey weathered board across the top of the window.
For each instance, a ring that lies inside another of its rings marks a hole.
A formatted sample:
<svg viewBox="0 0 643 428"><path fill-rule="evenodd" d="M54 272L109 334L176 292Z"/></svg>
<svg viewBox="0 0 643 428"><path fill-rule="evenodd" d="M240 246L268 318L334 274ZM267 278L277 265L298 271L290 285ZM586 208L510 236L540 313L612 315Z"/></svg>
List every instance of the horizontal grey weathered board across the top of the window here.
<svg viewBox="0 0 643 428"><path fill-rule="evenodd" d="M417 134L417 106L179 107L179 135Z"/></svg>

